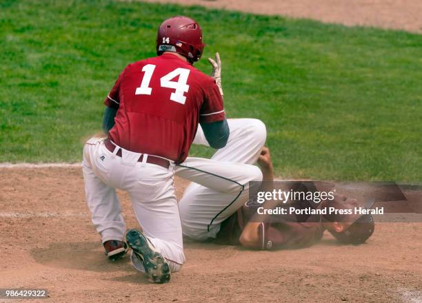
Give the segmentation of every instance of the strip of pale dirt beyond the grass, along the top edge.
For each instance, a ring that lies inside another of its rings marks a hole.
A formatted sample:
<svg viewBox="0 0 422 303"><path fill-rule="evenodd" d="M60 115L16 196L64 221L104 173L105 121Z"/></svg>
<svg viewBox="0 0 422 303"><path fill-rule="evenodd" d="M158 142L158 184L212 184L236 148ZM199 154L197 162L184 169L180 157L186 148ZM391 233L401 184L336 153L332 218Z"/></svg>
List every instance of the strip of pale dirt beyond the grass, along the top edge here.
<svg viewBox="0 0 422 303"><path fill-rule="evenodd" d="M145 1L145 0L143 0ZM420 0L146 0L422 33Z"/></svg>

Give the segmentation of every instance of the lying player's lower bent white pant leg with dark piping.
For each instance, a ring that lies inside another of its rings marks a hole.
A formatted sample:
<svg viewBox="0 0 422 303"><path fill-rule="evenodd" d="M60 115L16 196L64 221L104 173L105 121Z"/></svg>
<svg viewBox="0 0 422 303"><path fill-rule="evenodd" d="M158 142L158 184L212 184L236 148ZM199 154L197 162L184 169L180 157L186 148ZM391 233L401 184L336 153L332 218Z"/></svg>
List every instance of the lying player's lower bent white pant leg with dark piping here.
<svg viewBox="0 0 422 303"><path fill-rule="evenodd" d="M179 202L183 235L194 240L215 238L221 222L248 200L249 182L262 180L254 165L204 158L188 158L176 171L194 181Z"/></svg>

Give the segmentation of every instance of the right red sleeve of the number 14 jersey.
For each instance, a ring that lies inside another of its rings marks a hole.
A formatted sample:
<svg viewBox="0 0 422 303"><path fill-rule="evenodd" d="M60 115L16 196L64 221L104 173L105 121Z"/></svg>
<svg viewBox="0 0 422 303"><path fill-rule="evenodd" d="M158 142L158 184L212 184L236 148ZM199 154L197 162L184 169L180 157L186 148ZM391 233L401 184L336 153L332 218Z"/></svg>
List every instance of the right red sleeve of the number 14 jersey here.
<svg viewBox="0 0 422 303"><path fill-rule="evenodd" d="M225 118L223 97L214 79L205 89L205 99L199 113L199 123L223 121Z"/></svg>

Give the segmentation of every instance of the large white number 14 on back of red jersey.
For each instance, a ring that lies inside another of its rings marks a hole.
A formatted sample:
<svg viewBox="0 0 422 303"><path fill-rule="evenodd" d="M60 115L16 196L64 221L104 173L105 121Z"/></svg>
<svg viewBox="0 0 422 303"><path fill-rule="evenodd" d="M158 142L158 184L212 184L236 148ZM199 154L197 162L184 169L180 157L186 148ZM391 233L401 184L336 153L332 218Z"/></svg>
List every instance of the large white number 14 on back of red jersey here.
<svg viewBox="0 0 422 303"><path fill-rule="evenodd" d="M154 64L147 64L142 68L142 72L144 72L143 79L141 82L141 86L137 87L135 94L150 95L152 93L152 87L149 87L149 85L155 67L156 65ZM186 96L184 94L185 92L189 91L189 85L187 84L189 73L190 70L179 67L176 70L173 70L172 72L161 77L161 87L172 88L173 90L175 90L174 92L172 92L172 94L170 94L171 101L185 104ZM179 81L172 81L172 79L176 78L177 76L179 76Z"/></svg>

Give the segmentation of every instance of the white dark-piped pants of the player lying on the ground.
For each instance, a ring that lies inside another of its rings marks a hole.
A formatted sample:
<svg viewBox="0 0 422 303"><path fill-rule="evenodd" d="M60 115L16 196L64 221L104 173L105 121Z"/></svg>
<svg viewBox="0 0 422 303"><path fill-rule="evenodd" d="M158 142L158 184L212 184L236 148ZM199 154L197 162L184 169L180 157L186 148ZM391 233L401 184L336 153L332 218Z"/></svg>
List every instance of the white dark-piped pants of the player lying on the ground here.
<svg viewBox="0 0 422 303"><path fill-rule="evenodd" d="M176 166L176 175L192 183L179 201L183 235L193 240L215 238L220 224L237 211L249 196L248 182L261 181L255 163L265 144L265 125L250 118L228 119L228 144L211 159L187 158ZM208 145L201 127L194 144Z"/></svg>

